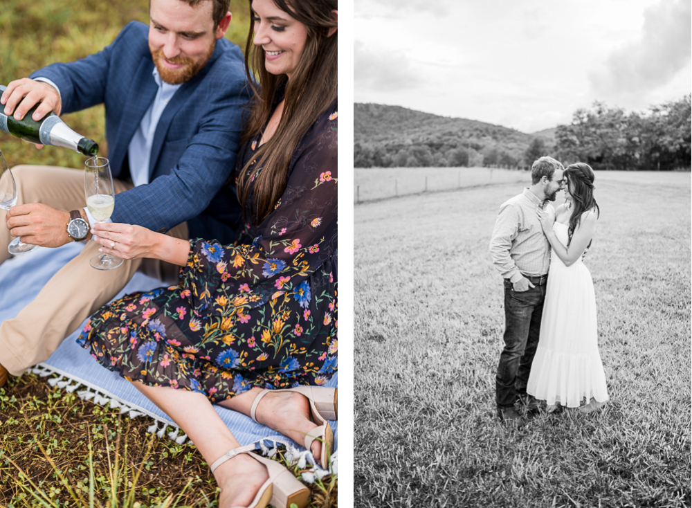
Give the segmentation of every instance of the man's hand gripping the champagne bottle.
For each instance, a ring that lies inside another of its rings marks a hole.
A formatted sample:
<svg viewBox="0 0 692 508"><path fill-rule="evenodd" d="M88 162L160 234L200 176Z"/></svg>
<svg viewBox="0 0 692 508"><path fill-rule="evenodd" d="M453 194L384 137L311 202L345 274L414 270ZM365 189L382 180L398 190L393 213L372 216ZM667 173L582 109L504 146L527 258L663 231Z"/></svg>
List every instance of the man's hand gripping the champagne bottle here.
<svg viewBox="0 0 692 508"><path fill-rule="evenodd" d="M5 106L4 113L8 116L14 114L17 120L21 120L29 109L39 104L31 118L41 120L46 114L53 111L60 115L62 111L62 100L60 93L51 87L50 84L41 81L22 78L21 80L10 81L6 91L0 96L0 104ZM19 104L19 106L17 106ZM16 111L15 111L15 108ZM43 145L36 145L38 148Z"/></svg>

